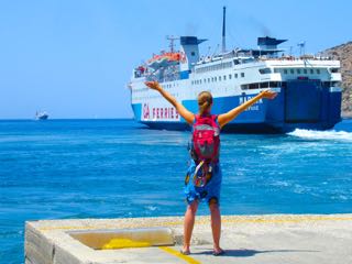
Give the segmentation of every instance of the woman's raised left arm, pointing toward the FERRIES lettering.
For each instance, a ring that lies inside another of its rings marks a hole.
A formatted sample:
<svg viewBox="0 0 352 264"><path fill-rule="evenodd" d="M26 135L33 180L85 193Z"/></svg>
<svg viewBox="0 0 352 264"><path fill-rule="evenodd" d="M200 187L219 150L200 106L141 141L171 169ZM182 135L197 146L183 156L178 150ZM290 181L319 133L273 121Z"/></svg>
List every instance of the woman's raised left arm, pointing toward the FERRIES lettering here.
<svg viewBox="0 0 352 264"><path fill-rule="evenodd" d="M169 103L172 103L176 108L179 116L182 116L187 121L187 123L191 124L195 121L195 114L188 111L168 91L164 90L157 81L145 81L145 85L151 89L158 91Z"/></svg>

